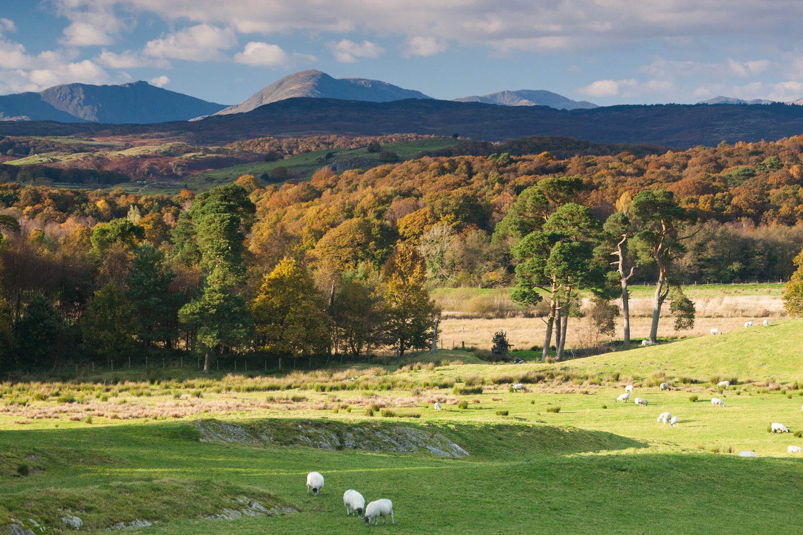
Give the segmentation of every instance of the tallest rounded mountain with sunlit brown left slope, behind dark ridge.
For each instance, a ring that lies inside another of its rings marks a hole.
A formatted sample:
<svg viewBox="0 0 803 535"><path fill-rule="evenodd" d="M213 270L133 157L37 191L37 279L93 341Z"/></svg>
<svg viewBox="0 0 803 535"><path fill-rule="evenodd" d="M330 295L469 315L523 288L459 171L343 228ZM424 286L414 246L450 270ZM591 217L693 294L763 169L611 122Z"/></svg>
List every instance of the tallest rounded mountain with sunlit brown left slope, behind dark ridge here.
<svg viewBox="0 0 803 535"><path fill-rule="evenodd" d="M245 113L264 104L297 97L365 100L367 102L431 98L421 91L403 89L379 80L362 78L334 79L325 72L311 70L285 76L283 79L257 91L245 102L226 107L214 115Z"/></svg>

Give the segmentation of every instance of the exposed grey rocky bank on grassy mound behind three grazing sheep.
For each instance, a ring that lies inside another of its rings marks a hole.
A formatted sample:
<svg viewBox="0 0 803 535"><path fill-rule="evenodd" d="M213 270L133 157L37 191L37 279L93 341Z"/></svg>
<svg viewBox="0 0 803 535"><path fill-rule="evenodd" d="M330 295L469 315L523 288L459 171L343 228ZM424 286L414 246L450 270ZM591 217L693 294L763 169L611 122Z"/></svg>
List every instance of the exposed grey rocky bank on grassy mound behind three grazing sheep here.
<svg viewBox="0 0 803 535"><path fill-rule="evenodd" d="M363 422L357 425L310 419L263 419L234 423L203 419L195 427L201 433L202 442L349 448L369 452L429 452L443 457L469 455L442 433L385 423Z"/></svg>

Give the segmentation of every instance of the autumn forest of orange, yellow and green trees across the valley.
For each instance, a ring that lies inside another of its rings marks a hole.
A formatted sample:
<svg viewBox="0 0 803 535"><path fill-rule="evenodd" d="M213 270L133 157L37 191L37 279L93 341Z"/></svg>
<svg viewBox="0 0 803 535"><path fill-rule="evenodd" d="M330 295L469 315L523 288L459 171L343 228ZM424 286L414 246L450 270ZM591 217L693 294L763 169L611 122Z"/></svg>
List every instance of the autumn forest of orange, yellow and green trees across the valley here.
<svg viewBox="0 0 803 535"><path fill-rule="evenodd" d="M3 172L0 370L403 355L431 342L437 287L512 288L522 314L554 326L544 357L553 346L558 359L569 315L594 312L580 293L605 322L628 280L656 282L675 321L693 322L683 284L795 273L801 143L576 156L479 144L481 156L322 167L298 184L244 175L175 196Z"/></svg>

